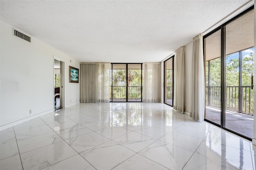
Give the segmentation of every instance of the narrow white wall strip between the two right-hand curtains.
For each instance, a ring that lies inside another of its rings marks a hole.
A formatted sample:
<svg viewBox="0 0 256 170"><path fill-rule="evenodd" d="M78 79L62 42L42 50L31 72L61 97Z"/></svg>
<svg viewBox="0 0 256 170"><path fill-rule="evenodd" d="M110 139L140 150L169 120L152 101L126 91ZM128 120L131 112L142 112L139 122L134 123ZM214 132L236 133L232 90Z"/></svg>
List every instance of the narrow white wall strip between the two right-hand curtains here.
<svg viewBox="0 0 256 170"><path fill-rule="evenodd" d="M191 112L191 69L192 69L193 42L185 46L185 113Z"/></svg>

